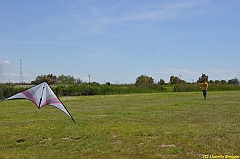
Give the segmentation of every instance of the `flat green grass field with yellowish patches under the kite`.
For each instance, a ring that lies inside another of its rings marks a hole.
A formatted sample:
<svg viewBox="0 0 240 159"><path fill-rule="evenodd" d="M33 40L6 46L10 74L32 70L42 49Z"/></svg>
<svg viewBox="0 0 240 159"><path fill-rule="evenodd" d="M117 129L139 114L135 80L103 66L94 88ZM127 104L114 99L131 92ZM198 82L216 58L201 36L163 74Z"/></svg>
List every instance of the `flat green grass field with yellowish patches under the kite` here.
<svg viewBox="0 0 240 159"><path fill-rule="evenodd" d="M54 107L1 102L0 158L240 156L240 91L60 99L76 123Z"/></svg>

